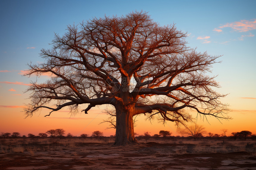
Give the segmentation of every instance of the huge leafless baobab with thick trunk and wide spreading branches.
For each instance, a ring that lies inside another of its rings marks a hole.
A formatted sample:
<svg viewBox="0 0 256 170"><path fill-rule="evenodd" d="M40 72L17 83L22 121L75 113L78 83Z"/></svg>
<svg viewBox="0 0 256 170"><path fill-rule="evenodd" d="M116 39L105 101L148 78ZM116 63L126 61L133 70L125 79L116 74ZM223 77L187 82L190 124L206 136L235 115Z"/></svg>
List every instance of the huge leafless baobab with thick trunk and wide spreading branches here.
<svg viewBox="0 0 256 170"><path fill-rule="evenodd" d="M198 53L186 46L186 33L174 25L160 26L147 13L93 18L70 25L55 35L52 49L41 50L44 63L29 64L26 75L51 74L45 83L33 82L31 103L25 109L32 116L41 108L58 111L88 104L85 114L96 105L115 109L115 144L136 143L133 117L144 114L183 123L191 120L184 110L227 119L220 102L225 95L208 76L219 56ZM49 106L55 101L56 106Z"/></svg>

